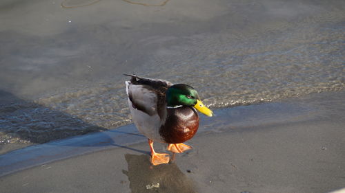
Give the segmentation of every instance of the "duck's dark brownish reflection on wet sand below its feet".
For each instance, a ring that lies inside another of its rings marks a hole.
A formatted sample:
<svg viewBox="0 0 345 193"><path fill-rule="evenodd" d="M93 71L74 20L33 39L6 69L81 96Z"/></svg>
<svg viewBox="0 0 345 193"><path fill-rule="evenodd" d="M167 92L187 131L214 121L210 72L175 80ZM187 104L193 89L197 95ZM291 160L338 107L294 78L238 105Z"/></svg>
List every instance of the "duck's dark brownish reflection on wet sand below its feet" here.
<svg viewBox="0 0 345 193"><path fill-rule="evenodd" d="M175 163L152 166L148 155L125 155L130 189L137 192L195 192L193 181Z"/></svg>

